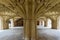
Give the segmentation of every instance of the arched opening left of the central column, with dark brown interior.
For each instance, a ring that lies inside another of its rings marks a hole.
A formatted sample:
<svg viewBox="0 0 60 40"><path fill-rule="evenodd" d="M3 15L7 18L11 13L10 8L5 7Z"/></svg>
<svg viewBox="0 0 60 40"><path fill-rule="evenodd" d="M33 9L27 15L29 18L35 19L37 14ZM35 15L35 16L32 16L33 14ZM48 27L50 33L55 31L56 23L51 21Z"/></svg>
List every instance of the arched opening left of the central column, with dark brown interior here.
<svg viewBox="0 0 60 40"><path fill-rule="evenodd" d="M9 19L9 28L13 28L13 27L23 27L23 18L14 17Z"/></svg>

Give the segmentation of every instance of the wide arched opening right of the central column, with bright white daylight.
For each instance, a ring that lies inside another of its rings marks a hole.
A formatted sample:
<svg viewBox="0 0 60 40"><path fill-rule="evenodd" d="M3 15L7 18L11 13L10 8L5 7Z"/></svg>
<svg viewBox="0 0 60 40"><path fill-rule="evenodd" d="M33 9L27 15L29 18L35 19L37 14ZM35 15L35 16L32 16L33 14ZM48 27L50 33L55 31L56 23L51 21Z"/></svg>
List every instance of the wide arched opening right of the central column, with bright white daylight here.
<svg viewBox="0 0 60 40"><path fill-rule="evenodd" d="M38 23L39 25L37 28L52 28L52 20L50 18L40 18Z"/></svg>

